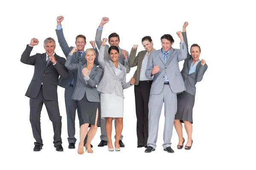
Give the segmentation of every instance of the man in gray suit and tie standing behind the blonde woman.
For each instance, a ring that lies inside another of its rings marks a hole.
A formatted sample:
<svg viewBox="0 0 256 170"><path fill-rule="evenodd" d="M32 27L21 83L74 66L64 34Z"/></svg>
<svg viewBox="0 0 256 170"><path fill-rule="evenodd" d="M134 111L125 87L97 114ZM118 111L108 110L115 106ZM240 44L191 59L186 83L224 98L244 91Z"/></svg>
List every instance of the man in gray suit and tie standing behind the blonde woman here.
<svg viewBox="0 0 256 170"><path fill-rule="evenodd" d="M65 40L63 29L61 26L61 21L64 20L63 16L57 17L57 29L56 34L58 37L58 42L61 46L61 50L63 51L64 55L67 57L70 51L72 51L73 46L68 46L67 41ZM84 58L84 46L86 45L86 37L84 35L78 35L76 37L76 47L78 48L78 51L76 51L72 58L72 63L78 63L79 61L82 62L82 64L86 63L86 59ZM96 49L95 42L90 42L90 44L93 46L93 49L96 52L96 59L94 60L96 65L99 65L98 62L98 50ZM76 138L75 138L75 119L76 119L76 100L71 99L71 96L74 92L74 89L76 88L76 79L77 79L77 71L76 70L69 70L69 74L67 78L60 77L59 78L59 86L65 88L65 105L66 105L66 112L67 112L67 133L68 133L68 148L74 149L76 144ZM79 125L81 120L81 115L78 112L78 118L79 118ZM84 143L86 143L87 137L84 140ZM91 147L93 147L91 145Z"/></svg>

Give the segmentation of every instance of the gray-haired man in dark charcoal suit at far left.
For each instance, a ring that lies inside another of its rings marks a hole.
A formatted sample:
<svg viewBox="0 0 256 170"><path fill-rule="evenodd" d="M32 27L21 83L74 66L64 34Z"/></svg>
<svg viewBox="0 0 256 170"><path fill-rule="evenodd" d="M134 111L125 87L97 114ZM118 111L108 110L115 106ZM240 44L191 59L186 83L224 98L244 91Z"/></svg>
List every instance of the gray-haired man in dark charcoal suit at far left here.
<svg viewBox="0 0 256 170"><path fill-rule="evenodd" d="M45 105L49 119L53 125L53 144L57 151L63 151L61 146L61 116L58 107L58 77L67 77L68 71L65 68L66 59L59 57L55 52L55 40L47 38L44 40L46 53L30 56L33 46L38 45L39 41L32 38L29 45L21 55L20 61L24 64L34 65L34 75L26 91L25 96L29 97L30 116L33 136L35 138L34 151L40 151L43 147L41 138L40 116L43 104Z"/></svg>

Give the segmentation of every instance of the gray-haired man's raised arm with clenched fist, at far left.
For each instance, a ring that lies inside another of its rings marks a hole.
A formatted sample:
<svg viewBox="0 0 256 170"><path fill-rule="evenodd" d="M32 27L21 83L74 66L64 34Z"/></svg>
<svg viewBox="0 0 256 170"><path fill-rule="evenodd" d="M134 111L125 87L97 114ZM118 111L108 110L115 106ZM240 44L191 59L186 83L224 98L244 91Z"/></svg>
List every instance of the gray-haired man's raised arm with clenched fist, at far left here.
<svg viewBox="0 0 256 170"><path fill-rule="evenodd" d="M38 39L32 38L29 45L26 46L25 51L22 53L20 62L28 65L35 65L36 55L33 55L33 56L29 56L29 55L33 49L33 46L38 45L38 43L39 43Z"/></svg>

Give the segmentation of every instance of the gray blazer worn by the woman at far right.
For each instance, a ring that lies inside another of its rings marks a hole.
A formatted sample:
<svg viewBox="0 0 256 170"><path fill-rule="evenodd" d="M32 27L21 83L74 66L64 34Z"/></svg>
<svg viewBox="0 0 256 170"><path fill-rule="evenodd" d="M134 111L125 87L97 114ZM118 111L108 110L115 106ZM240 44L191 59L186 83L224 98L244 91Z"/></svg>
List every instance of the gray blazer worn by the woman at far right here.
<svg viewBox="0 0 256 170"><path fill-rule="evenodd" d="M183 32L182 35L186 43L186 47L188 49L188 40L187 40L186 32ZM181 75L184 80L186 92L195 96L195 90L196 90L195 84L197 82L200 82L203 79L204 73L207 70L208 66L206 63L205 65L201 65L201 61L200 61L196 66L196 71L194 73L189 74L192 60L193 59L189 54L189 50L187 50L187 58L184 61L183 68L181 70Z"/></svg>

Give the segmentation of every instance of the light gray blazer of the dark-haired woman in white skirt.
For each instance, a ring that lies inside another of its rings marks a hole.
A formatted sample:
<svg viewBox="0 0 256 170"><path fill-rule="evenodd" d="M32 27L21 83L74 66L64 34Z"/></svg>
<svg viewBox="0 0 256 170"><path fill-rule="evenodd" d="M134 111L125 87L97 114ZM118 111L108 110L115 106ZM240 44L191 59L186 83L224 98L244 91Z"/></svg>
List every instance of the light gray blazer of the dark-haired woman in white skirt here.
<svg viewBox="0 0 256 170"><path fill-rule="evenodd" d="M104 60L105 46L99 49L99 66L103 68L103 77L97 86L97 90L102 93L113 93L124 98L123 89L129 88L132 85L126 82L126 68L121 65L121 73L116 76L116 68L111 60Z"/></svg>

